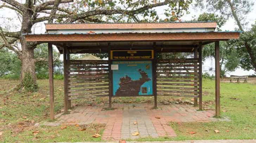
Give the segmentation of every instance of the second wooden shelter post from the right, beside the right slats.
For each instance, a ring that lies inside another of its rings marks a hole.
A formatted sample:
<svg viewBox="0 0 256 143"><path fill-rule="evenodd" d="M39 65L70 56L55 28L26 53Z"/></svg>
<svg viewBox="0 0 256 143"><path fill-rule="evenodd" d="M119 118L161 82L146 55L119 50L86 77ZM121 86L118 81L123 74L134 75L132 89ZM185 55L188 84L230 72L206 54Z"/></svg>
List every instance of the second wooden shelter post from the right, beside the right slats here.
<svg viewBox="0 0 256 143"><path fill-rule="evenodd" d="M203 85L202 85L202 43L199 44L199 110L203 110Z"/></svg>

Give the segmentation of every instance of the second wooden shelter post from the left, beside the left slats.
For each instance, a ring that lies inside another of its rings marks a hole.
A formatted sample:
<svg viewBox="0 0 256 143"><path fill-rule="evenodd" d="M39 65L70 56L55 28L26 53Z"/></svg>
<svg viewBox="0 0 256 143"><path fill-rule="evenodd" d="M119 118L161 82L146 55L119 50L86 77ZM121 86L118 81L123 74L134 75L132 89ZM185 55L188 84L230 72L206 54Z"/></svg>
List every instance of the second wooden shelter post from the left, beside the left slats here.
<svg viewBox="0 0 256 143"><path fill-rule="evenodd" d="M63 66L64 66L64 113L68 113L68 68L67 68L67 48L63 45Z"/></svg>

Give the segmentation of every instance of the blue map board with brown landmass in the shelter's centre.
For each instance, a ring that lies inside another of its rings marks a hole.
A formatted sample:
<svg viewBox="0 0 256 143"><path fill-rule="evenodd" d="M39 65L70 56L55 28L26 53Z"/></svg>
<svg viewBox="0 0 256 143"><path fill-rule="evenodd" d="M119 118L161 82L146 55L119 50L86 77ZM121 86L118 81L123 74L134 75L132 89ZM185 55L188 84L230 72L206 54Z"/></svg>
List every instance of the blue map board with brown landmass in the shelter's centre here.
<svg viewBox="0 0 256 143"><path fill-rule="evenodd" d="M118 70L113 72L113 95L152 95L152 61L114 61Z"/></svg>

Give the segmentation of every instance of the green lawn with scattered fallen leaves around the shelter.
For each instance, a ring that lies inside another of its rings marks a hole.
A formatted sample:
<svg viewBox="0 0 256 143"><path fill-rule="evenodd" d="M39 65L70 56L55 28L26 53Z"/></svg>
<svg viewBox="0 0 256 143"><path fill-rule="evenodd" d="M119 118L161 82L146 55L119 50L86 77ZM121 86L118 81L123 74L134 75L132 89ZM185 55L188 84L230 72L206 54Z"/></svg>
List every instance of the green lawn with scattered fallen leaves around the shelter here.
<svg viewBox="0 0 256 143"><path fill-rule="evenodd" d="M250 80L250 79L249 79ZM63 80L54 80L55 112L63 109ZM0 79L0 142L82 142L101 141L93 138L102 134L104 124L92 124L79 131L75 126L46 127L33 126L37 122L49 120L49 81L38 80L39 90L34 93L15 91L17 80ZM221 82L221 116L231 122L211 123L170 123L178 135L174 138L141 138L139 141L196 140L196 139L254 139L256 138L256 82ZM215 81L203 80L204 106L215 108ZM159 96L159 102L191 100L191 98L171 98ZM153 98L114 98L115 103L153 103ZM72 105L107 103L108 98L74 100ZM226 112L225 112L226 111ZM62 129L64 127L64 129ZM214 133L219 130L219 133ZM195 131L196 134L189 132ZM34 132L34 133L33 133ZM39 133L38 133L39 132ZM2 135L1 135L2 133Z"/></svg>

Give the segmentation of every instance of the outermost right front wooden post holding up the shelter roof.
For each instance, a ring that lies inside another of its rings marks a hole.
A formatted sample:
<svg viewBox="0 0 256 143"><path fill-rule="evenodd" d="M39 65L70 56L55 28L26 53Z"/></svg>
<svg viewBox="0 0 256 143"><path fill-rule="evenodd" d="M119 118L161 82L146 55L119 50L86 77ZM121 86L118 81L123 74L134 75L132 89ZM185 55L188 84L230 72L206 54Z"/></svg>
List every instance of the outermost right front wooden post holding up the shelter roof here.
<svg viewBox="0 0 256 143"><path fill-rule="evenodd" d="M219 41L215 42L215 104L216 116L220 116Z"/></svg>

